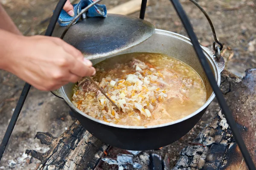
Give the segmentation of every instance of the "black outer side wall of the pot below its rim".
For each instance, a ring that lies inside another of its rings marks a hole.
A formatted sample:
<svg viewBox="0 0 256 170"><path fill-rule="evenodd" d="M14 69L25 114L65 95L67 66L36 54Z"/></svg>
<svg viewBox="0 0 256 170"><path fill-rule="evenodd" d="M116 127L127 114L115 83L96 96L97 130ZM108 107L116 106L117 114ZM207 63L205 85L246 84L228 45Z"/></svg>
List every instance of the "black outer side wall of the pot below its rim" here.
<svg viewBox="0 0 256 170"><path fill-rule="evenodd" d="M86 130L106 144L126 150L152 150L171 144L188 133L206 109L183 122L151 129L125 129L103 125L74 110L73 112Z"/></svg>

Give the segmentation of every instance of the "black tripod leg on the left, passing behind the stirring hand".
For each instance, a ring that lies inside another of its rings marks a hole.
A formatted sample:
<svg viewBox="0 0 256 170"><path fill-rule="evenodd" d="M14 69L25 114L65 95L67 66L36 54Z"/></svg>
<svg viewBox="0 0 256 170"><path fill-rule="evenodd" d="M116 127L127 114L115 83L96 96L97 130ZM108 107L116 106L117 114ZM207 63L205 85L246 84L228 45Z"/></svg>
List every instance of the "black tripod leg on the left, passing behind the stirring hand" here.
<svg viewBox="0 0 256 170"><path fill-rule="evenodd" d="M52 32L53 32L53 30L55 28L55 25L57 23L58 17L60 15L61 10L62 10L64 4L66 3L66 1L67 0L60 0L58 2L57 6L56 6L56 8L55 8L55 10L54 10L54 12L52 14L52 18L50 20L49 26L47 27L47 30L45 32L45 36L51 36L52 35ZM2 140L1 145L0 145L0 161L1 161L2 157L3 157L3 153L4 153L5 149L6 149L6 146L7 146L8 142L9 142L9 139L10 139L10 137L12 135L12 131L13 131L13 129L15 127L15 124L17 122L17 119L18 119L18 117L20 115L20 111L21 111L21 109L23 107L23 104L24 104L24 102L26 100L26 96L29 93L30 87L31 87L31 85L29 85L28 83L25 83L25 85L23 87L23 90L22 90L22 92L20 94L20 98L18 100L18 103L16 105L14 113L12 114L12 118L11 118L11 120L9 122L9 125L7 127L6 133L4 134L3 140Z"/></svg>

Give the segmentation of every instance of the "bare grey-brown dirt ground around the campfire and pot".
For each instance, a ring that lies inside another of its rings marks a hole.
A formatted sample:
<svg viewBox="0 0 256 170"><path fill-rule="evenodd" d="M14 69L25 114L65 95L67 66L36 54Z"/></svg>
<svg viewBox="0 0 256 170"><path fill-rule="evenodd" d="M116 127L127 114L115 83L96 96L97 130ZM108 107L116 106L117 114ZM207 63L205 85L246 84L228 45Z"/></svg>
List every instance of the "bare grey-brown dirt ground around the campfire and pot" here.
<svg viewBox="0 0 256 170"><path fill-rule="evenodd" d="M107 8L112 8L125 1L127 0L108 0L102 3L105 3ZM30 36L45 30L57 0L0 0L0 2L20 31ZM188 0L181 2L201 45L211 48L212 32L204 15ZM209 14L217 37L224 44L222 54L226 61L226 69L243 77L245 69L256 68L256 0L198 0L198 3ZM139 12L131 15L138 17ZM156 28L187 36L169 0L154 2L151 0L145 20L153 23ZM24 82L16 76L0 71L0 142L23 84ZM216 108L213 107L214 105L217 105L215 101L201 121L186 136L163 148L168 150L172 167L178 159L180 150L191 142L218 112L212 111L212 108ZM25 150L47 151L47 147L34 139L36 132L49 132L53 136L59 136L73 122L69 112L69 108L61 99L49 92L32 88L0 163L0 170L34 170L39 161L26 156Z"/></svg>

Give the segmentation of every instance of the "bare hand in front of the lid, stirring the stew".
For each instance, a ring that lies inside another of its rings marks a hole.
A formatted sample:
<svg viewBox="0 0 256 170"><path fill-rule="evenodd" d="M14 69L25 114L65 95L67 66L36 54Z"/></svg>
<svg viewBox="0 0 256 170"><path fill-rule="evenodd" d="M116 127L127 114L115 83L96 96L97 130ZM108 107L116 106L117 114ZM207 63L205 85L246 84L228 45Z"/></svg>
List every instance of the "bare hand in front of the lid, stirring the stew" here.
<svg viewBox="0 0 256 170"><path fill-rule="evenodd" d="M39 90L52 91L96 73L79 50L59 38L17 37L8 53L6 70Z"/></svg>

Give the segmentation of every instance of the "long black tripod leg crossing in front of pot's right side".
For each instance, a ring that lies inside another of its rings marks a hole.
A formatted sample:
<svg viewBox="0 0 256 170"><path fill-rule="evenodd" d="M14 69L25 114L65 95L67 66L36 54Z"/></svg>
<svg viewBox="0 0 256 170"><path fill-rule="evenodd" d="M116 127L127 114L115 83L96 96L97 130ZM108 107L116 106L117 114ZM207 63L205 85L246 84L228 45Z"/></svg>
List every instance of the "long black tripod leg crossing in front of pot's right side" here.
<svg viewBox="0 0 256 170"><path fill-rule="evenodd" d="M250 154L244 144L242 136L239 133L239 129L236 126L236 122L231 114L231 111L230 111L229 107L227 106L227 103L224 99L224 96L223 96L221 90L219 89L219 87L217 85L217 82L215 80L215 77L214 77L211 69L210 69L207 59L204 56L204 53L201 49L201 46L198 42L195 32L193 31L193 28L189 21L189 18L186 16L186 13L183 10L179 0L170 0L170 1L172 2L178 16L180 17L181 22L183 23L184 28L186 29L187 34L189 35L189 38L193 44L193 47L198 56L198 59L200 60L201 65L204 68L207 78L212 86L212 90L214 91L216 98L218 99L218 103L221 106L222 113L224 113L225 118L227 119L227 123L230 125L230 129L232 130L232 133L236 139L236 142L241 150L242 155L244 156L244 160L245 160L248 168L250 170L256 170L253 160L251 159Z"/></svg>

